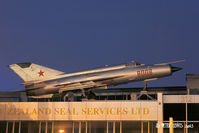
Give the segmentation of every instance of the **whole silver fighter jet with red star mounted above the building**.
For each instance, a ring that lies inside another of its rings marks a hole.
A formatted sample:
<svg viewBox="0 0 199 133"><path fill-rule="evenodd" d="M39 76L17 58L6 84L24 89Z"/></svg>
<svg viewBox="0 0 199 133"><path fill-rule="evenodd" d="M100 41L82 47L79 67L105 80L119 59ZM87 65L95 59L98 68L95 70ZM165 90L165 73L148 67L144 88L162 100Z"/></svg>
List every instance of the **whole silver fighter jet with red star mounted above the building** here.
<svg viewBox="0 0 199 133"><path fill-rule="evenodd" d="M82 96L86 97L86 91L170 76L182 69L171 64L181 61L153 65L132 61L76 73L65 73L30 62L12 64L9 67L24 80L21 85L25 86L27 96L52 97L54 94L81 90Z"/></svg>

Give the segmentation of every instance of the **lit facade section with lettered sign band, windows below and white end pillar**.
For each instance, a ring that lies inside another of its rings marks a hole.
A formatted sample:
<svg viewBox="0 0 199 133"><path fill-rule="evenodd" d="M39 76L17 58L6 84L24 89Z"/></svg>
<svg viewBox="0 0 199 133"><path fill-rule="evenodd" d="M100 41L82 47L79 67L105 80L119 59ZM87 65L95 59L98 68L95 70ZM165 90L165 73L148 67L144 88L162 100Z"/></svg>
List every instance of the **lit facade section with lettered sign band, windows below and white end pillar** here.
<svg viewBox="0 0 199 133"><path fill-rule="evenodd" d="M2 102L5 133L157 132L162 122L157 101Z"/></svg>

